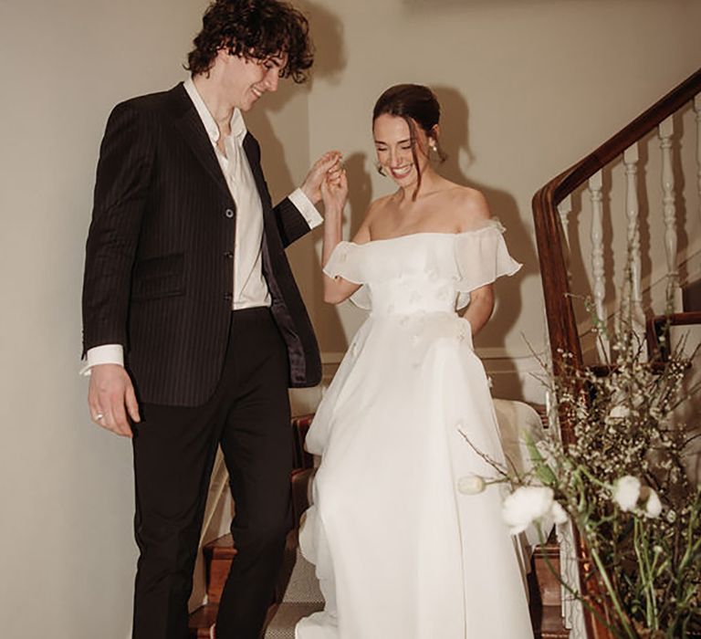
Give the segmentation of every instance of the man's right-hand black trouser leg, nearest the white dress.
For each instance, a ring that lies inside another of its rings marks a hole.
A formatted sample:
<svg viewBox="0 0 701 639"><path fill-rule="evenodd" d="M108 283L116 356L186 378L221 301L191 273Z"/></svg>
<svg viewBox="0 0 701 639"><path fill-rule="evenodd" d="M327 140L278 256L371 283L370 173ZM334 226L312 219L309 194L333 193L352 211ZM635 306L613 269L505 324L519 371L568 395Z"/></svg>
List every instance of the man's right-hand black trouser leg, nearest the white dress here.
<svg viewBox="0 0 701 639"><path fill-rule="evenodd" d="M237 550L219 605L217 639L257 639L292 528L288 359L269 314L246 316L237 340L235 403L221 446L235 500ZM236 318L236 313L235 313Z"/></svg>

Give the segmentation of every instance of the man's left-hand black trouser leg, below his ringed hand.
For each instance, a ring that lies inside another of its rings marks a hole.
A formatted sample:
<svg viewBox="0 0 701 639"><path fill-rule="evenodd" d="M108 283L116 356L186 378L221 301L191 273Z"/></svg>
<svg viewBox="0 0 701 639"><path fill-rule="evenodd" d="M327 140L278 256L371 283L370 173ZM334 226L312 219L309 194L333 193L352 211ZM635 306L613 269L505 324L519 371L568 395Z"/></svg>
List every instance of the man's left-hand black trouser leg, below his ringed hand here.
<svg viewBox="0 0 701 639"><path fill-rule="evenodd" d="M140 550L133 637L187 639L187 601L216 452L214 411L141 409L133 440Z"/></svg>

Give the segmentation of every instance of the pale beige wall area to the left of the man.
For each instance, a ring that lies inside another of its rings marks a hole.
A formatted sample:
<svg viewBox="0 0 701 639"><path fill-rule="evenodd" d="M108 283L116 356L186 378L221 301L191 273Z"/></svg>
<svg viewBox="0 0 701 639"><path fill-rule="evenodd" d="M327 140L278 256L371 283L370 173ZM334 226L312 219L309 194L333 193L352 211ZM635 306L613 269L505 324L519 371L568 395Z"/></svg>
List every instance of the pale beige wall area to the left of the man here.
<svg viewBox="0 0 701 639"><path fill-rule="evenodd" d="M120 99L183 77L203 1L0 4L0 628L124 639L131 447L89 423L78 378L99 139Z"/></svg>

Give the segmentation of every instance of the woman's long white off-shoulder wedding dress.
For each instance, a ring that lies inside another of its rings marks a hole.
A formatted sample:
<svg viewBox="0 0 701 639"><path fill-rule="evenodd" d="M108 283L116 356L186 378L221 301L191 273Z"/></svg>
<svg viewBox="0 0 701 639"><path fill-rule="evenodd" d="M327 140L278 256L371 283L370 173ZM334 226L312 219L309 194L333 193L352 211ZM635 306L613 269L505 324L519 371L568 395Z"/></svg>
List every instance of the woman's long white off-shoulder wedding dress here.
<svg viewBox="0 0 701 639"><path fill-rule="evenodd" d="M503 460L487 377L455 312L520 267L502 233L493 220L331 254L325 272L362 284L352 300L371 313L307 436L321 464L300 547L326 606L298 623L298 639L533 636L501 488L457 488L495 476L464 435Z"/></svg>

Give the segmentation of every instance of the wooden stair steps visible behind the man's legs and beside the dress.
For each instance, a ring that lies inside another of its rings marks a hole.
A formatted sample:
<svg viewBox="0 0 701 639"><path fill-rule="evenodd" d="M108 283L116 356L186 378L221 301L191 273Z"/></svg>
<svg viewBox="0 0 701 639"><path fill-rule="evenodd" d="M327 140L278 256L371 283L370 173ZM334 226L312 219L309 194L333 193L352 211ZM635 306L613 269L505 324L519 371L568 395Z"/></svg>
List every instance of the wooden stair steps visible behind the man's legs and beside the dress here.
<svg viewBox="0 0 701 639"><path fill-rule="evenodd" d="M295 521L308 506L309 479L313 473L313 459L304 451L304 437L309 430L311 415L292 420L295 432L295 470L292 473L292 501ZM209 639L210 628L216 619L222 590L231 562L235 561L235 544L231 535L215 539L204 546L208 602L190 615L192 639ZM560 549L554 536L533 553L528 575L530 613L537 639L565 639L570 636L562 625L560 581L551 568L560 571ZM323 608L319 582L311 565L298 549L298 530L289 532L283 566L277 581L273 601L267 612L264 639L294 639L295 624ZM403 639L387 637L387 639Z"/></svg>

